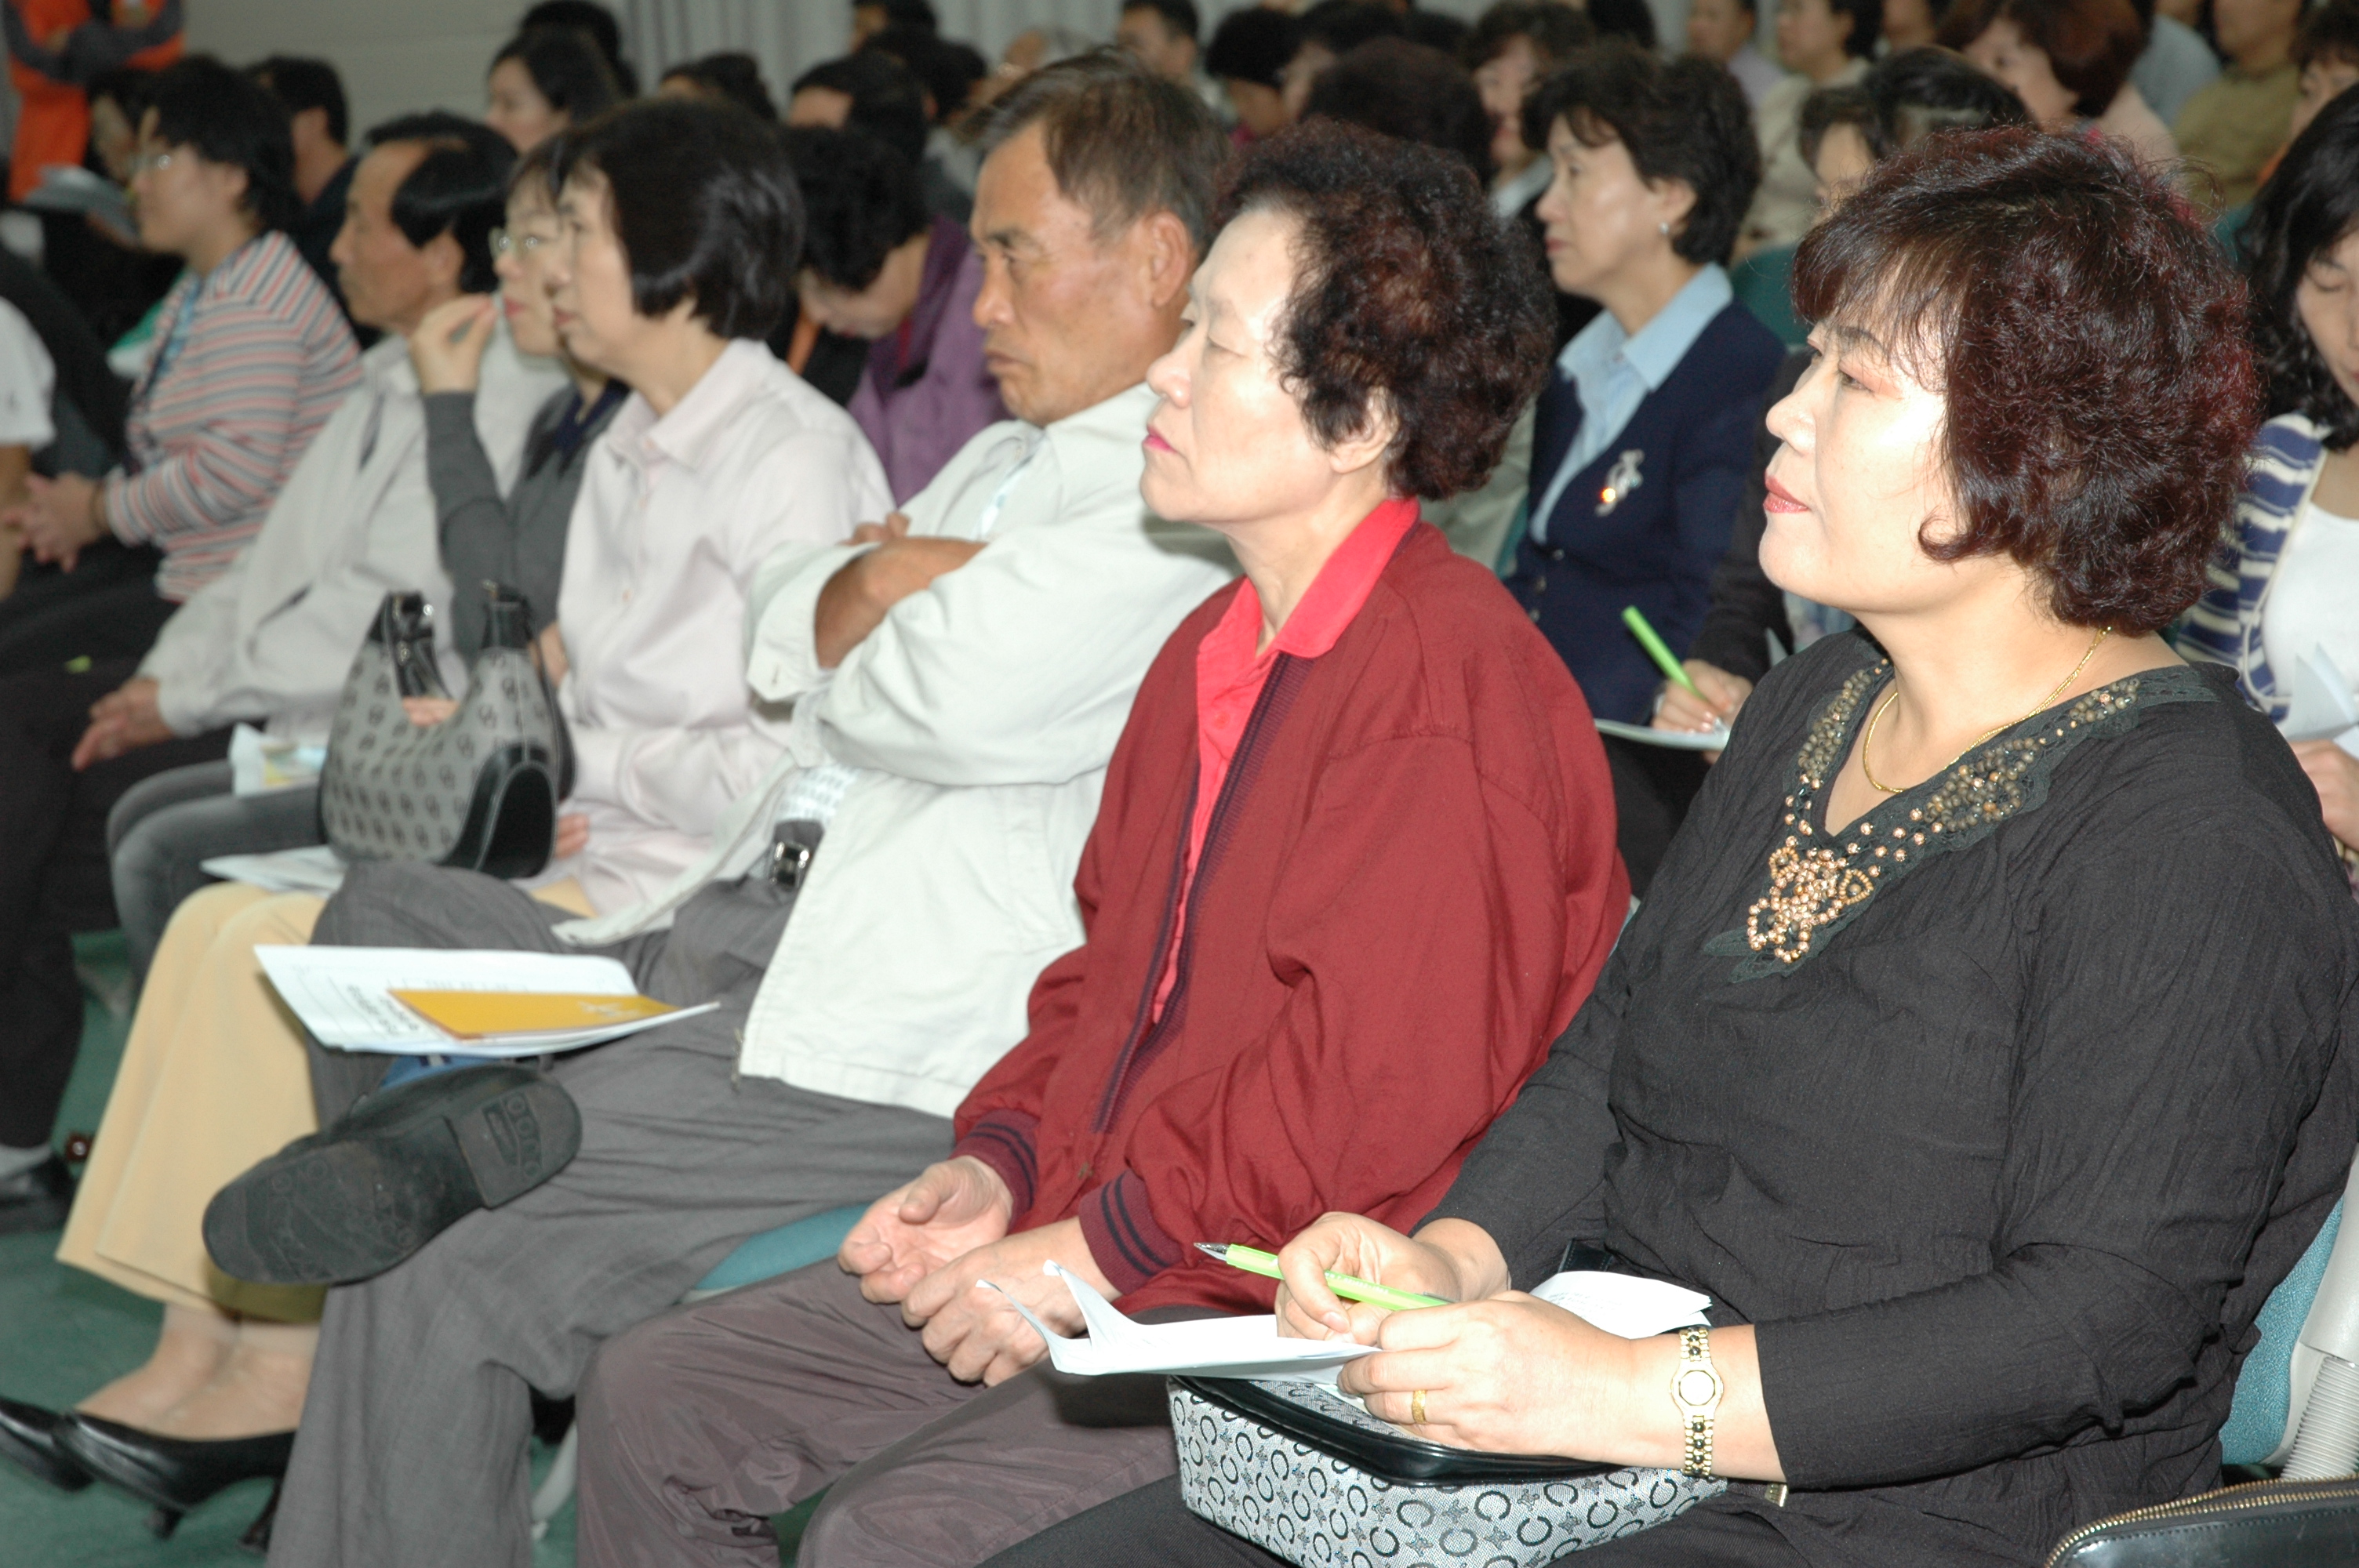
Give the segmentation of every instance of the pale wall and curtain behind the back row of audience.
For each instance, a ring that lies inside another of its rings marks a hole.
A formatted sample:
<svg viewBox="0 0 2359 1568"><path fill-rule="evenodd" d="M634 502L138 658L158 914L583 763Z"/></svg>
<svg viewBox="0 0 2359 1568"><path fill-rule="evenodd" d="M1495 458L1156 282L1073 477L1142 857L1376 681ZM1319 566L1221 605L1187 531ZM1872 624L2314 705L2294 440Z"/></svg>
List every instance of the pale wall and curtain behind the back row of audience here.
<svg viewBox="0 0 2359 1568"><path fill-rule="evenodd" d="M623 17L625 47L653 85L663 66L712 50L748 50L771 92L842 52L849 0L606 0ZM1198 0L1205 33L1250 0ZM1420 0L1474 17L1486 0ZM484 66L526 0L189 0L189 47L234 64L264 54L318 54L344 75L351 123L366 130L413 108L481 113ZM1059 24L1111 35L1118 0L934 0L941 31L998 59L1024 28ZM1687 0L1649 0L1663 40L1677 45ZM1769 7L1762 5L1767 14Z"/></svg>

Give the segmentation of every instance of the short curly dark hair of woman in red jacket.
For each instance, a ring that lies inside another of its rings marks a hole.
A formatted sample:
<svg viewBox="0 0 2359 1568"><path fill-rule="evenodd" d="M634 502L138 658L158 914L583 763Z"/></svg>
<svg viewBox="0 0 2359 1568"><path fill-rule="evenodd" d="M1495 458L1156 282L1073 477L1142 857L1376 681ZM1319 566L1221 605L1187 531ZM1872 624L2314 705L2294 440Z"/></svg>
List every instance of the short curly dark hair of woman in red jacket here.
<svg viewBox="0 0 2359 1568"><path fill-rule="evenodd" d="M1441 500L1498 467L1548 368L1548 288L1463 158L1340 120L1255 141L1217 219L1300 224L1279 375L1326 446L1389 410L1394 495Z"/></svg>

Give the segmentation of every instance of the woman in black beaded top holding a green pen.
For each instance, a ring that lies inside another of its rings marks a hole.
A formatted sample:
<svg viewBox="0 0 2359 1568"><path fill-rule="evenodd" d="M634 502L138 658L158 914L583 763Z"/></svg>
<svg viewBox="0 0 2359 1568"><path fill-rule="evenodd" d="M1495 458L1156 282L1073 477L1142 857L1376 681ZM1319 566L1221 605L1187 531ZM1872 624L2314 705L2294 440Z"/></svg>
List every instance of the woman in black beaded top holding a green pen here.
<svg viewBox="0 0 2359 1568"><path fill-rule="evenodd" d="M1281 1320L1382 1344L1342 1386L1432 1441L1732 1481L1583 1568L2038 1563L2217 1481L2253 1318L2352 1160L2359 913L2286 745L2154 637L2255 406L2170 191L2074 137L1932 139L1795 292L1821 358L1772 413L1762 564L1866 634L1762 681L1418 1238L1323 1219ZM1569 1245L1708 1292L1706 1344L1514 1290ZM1463 1306L1387 1318L1319 1269ZM1106 1528L1128 1563L1267 1561L1175 1488L1007 1561Z"/></svg>

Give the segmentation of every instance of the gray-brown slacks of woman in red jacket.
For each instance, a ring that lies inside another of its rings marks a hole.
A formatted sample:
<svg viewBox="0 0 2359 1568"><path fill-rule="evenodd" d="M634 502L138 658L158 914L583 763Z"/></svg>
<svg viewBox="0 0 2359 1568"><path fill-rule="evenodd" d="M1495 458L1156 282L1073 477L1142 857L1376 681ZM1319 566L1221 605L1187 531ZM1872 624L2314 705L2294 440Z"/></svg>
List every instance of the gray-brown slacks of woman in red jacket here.
<svg viewBox="0 0 2359 1568"><path fill-rule="evenodd" d="M830 1483L804 1568L967 1568L1177 1467L1161 1377L953 1382L833 1261L609 1339L580 1434L583 1568L767 1568Z"/></svg>

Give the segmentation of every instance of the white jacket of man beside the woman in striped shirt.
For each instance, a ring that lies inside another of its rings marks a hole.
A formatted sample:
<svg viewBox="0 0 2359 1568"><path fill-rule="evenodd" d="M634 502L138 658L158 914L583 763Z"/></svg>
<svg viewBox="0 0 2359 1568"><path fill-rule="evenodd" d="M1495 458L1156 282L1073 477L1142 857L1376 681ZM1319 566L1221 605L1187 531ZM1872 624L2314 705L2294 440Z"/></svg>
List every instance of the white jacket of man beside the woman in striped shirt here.
<svg viewBox="0 0 2359 1568"><path fill-rule="evenodd" d="M163 622L139 660L175 736L248 719L274 736L326 740L387 592L427 594L436 625L451 625L410 347L387 337L361 356L361 377L304 448L255 542ZM561 384L557 365L521 358L500 323L484 349L474 434L502 493L533 413Z"/></svg>

